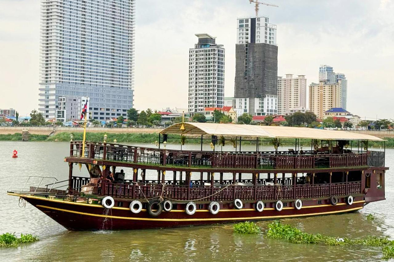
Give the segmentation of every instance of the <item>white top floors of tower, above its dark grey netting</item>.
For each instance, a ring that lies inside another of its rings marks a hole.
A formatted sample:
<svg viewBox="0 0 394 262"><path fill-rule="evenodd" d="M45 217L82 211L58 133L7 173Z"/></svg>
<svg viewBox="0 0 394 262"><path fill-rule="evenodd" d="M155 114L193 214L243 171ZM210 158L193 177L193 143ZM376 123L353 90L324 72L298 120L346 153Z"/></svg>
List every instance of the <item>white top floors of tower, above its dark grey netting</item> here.
<svg viewBox="0 0 394 262"><path fill-rule="evenodd" d="M277 26L269 23L269 18L245 17L237 19L237 43L268 43L277 45Z"/></svg>

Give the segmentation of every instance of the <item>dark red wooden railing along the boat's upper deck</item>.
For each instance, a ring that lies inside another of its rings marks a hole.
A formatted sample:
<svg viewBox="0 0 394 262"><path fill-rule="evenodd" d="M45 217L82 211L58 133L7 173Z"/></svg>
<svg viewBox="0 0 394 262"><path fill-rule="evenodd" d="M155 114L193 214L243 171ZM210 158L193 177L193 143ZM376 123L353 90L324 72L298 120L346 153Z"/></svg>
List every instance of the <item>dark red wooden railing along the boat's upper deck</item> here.
<svg viewBox="0 0 394 262"><path fill-rule="evenodd" d="M171 167L205 167L234 169L312 169L358 167L367 165L367 154L313 154L305 152L214 152L185 151L136 147L112 143L73 141L70 156L116 162Z"/></svg>

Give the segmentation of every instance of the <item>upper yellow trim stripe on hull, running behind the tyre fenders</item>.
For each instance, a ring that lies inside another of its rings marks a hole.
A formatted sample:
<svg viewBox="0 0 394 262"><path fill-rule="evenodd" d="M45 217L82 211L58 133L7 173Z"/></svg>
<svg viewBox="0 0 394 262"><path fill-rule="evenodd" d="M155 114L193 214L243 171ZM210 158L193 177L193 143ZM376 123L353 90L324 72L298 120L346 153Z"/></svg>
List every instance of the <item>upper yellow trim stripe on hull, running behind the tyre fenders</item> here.
<svg viewBox="0 0 394 262"><path fill-rule="evenodd" d="M87 206L87 207L99 207L104 208L102 205L97 204L85 204L85 203L77 203L77 202L69 202L63 200L55 200L55 199L47 199L43 197L35 197L34 195L26 195L26 194L15 194L15 193L7 193L8 195L14 195L16 197L28 198L28 199L37 199L37 200L44 200L48 202L56 202L56 203L63 203L63 204L71 204L71 205L79 205L79 206ZM361 201L354 201L353 204L358 203L365 203L364 200ZM337 206L346 205L346 203L338 203ZM303 206L303 208L314 208L314 207L330 207L331 205L317 205L317 206ZM126 207L113 207L112 209L117 210L129 210ZM283 210L286 209L294 209L294 207L284 207ZM275 210L274 208L264 208L264 210ZM146 211L146 209L142 209L141 211ZM244 209L221 209L220 212L234 212L234 211L254 211L253 208L244 208ZM185 210L171 210L170 212L185 212ZM196 212L209 212L209 210L196 210Z"/></svg>

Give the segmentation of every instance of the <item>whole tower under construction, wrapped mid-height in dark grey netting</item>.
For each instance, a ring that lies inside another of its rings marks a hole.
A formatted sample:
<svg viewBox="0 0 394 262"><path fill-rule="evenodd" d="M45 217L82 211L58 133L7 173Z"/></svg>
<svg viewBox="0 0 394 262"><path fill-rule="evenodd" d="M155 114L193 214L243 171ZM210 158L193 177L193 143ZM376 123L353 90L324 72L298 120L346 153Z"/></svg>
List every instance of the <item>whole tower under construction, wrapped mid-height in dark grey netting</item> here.
<svg viewBox="0 0 394 262"><path fill-rule="evenodd" d="M278 114L276 29L264 16L237 20L235 107L253 116Z"/></svg>

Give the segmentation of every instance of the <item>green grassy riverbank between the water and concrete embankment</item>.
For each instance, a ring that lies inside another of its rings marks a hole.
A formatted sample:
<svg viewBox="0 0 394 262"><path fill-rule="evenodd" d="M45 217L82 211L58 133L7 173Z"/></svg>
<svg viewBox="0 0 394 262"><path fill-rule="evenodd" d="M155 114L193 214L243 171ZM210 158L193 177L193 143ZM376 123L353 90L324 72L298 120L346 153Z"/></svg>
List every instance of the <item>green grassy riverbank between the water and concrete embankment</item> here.
<svg viewBox="0 0 394 262"><path fill-rule="evenodd" d="M73 128L76 129L76 128ZM116 131L116 128L105 128ZM134 130L141 130L135 128ZM149 128L144 128L149 129ZM120 130L122 130L120 128ZM155 130L155 129L153 129ZM52 136L48 135L36 135L30 134L29 141L46 141L46 142L69 142L70 141L70 134L74 135L73 140L83 140L83 132L61 132L55 133ZM159 140L159 133L110 133L110 132L90 132L90 129L86 133L86 140L87 141L103 141L104 135L107 135L107 141L113 142L116 140L117 143L154 143L155 141ZM181 143L181 135L171 135L171 138L167 140L169 144L179 144ZM186 137L186 144L200 144L201 143L200 137ZM384 138L386 141L386 148L394 148L394 138ZM247 140L247 139L245 139ZM250 145L255 144L255 140L250 139L251 141L242 141L243 145ZM22 134L15 133L15 134L0 134L0 141L22 141ZM205 139L204 144L211 143L211 140ZM218 144L220 143L220 138ZM231 141L226 140L226 144L230 144ZM295 144L294 139L281 139L280 143L282 146L291 146L293 147ZM300 143L305 147L305 150L310 148L310 140L305 140L304 142ZM265 141L261 142L261 145L272 145L271 139L266 139ZM369 142L369 145L373 147L381 147L383 146L381 142Z"/></svg>

